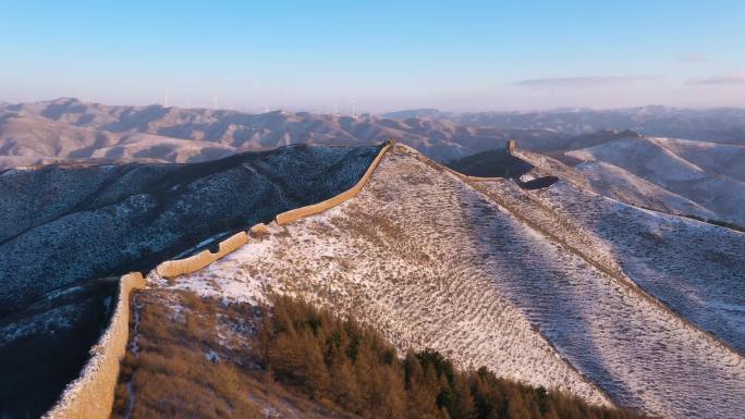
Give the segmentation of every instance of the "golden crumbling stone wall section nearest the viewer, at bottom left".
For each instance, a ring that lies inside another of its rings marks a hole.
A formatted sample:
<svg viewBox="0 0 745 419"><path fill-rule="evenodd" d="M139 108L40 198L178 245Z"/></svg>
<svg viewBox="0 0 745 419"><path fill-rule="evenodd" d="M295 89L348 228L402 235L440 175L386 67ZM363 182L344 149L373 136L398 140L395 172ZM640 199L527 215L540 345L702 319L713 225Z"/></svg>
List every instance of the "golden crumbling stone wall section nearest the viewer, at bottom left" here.
<svg viewBox="0 0 745 419"><path fill-rule="evenodd" d="M44 419L105 419L111 415L119 365L126 352L130 332L130 294L145 287L139 272L119 282L119 301L106 332L90 348L90 358L81 375L68 384Z"/></svg>

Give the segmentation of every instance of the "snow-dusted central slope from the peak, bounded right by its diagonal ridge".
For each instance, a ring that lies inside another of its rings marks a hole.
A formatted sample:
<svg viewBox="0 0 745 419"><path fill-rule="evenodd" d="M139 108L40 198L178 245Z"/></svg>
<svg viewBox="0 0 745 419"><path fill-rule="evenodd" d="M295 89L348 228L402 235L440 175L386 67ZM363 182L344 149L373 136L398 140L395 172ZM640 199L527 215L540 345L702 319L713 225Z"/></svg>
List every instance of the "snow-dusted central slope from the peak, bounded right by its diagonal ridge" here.
<svg viewBox="0 0 745 419"><path fill-rule="evenodd" d="M741 354L615 278L618 261L588 260L480 189L396 146L355 199L272 225L174 286L249 301L298 294L400 349L433 347L590 403L607 393L671 418L743 417Z"/></svg>

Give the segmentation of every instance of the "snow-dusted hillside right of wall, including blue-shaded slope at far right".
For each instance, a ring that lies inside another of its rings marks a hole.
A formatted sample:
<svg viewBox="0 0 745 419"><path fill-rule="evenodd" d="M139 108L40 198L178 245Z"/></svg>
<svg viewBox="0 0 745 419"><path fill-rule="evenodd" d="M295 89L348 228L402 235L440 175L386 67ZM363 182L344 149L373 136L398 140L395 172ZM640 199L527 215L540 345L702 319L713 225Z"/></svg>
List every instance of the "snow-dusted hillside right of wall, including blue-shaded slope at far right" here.
<svg viewBox="0 0 745 419"><path fill-rule="evenodd" d="M535 175L562 180L524 189L396 146L355 198L152 286L252 304L300 295L399 350L593 405L743 417L745 234L600 196L542 163Z"/></svg>

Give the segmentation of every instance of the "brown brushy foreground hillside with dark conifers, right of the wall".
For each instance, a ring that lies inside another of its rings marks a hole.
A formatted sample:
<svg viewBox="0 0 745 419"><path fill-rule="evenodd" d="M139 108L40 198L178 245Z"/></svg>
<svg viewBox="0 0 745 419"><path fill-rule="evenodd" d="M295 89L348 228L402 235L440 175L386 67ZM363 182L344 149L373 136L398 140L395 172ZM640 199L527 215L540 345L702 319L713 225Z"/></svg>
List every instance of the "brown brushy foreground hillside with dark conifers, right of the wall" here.
<svg viewBox="0 0 745 419"><path fill-rule="evenodd" d="M270 305L138 293L111 418L643 419L566 392L396 348L302 299ZM163 318L171 319L164 323Z"/></svg>

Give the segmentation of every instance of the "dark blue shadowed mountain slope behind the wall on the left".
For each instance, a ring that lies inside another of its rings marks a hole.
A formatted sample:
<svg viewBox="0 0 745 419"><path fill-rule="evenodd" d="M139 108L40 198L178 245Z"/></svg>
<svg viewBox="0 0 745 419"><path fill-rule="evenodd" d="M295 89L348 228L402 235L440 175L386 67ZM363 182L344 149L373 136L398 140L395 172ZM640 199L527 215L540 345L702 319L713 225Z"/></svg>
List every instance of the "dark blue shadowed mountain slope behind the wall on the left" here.
<svg viewBox="0 0 745 419"><path fill-rule="evenodd" d="M147 270L218 233L337 195L377 150L293 146L188 165L5 171L0 305L9 310L82 279Z"/></svg>

